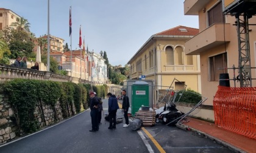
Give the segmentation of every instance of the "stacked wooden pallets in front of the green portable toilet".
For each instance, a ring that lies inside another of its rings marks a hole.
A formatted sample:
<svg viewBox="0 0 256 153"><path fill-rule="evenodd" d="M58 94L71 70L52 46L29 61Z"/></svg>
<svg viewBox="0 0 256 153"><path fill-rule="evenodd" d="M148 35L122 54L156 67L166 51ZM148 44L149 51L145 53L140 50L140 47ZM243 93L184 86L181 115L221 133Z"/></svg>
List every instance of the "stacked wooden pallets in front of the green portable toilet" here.
<svg viewBox="0 0 256 153"><path fill-rule="evenodd" d="M143 126L152 126L155 124L155 114L155 111L139 110L135 117L143 121Z"/></svg>

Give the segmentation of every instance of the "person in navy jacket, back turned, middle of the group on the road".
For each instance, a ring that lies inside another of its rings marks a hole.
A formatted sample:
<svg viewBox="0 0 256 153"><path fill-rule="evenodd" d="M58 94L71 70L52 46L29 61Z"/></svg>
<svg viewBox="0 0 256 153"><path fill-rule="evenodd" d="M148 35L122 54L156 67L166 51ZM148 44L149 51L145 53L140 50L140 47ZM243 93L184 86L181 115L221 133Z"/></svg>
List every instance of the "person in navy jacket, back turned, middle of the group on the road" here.
<svg viewBox="0 0 256 153"><path fill-rule="evenodd" d="M116 111L119 109L118 101L116 96L112 95L110 92L108 92L107 97L108 97L108 118L109 118L108 129L115 129L116 128Z"/></svg>

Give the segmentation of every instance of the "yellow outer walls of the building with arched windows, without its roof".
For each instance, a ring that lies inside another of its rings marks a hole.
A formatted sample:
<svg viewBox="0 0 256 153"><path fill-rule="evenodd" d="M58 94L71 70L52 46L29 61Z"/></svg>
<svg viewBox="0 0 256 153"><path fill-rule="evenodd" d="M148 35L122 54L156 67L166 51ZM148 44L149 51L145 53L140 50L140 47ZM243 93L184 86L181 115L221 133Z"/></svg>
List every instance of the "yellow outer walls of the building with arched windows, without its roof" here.
<svg viewBox="0 0 256 153"><path fill-rule="evenodd" d="M158 89L168 89L171 86L172 81L176 78L178 81L185 82L187 89L190 88L196 92L201 93L201 78L200 78L200 67L199 67L199 56L193 55L193 65L187 65L187 56L185 56L185 41L189 38L153 38L151 41L144 46L137 55L130 60L130 66L133 66L134 73L132 72L133 79L138 76L136 71L136 62L141 59L141 75L146 75L146 80L155 80L155 91ZM167 46L171 46L174 50L174 65L166 65L166 53L165 49ZM177 64L177 49L183 51L182 65ZM153 51L153 67L150 67L149 52ZM146 61L144 56L147 56ZM156 60L155 60L156 58ZM147 63L147 69L145 69L145 63ZM173 69L171 68L173 67ZM177 82L177 81L176 81ZM161 87L166 86L166 87ZM175 89L175 81L172 86ZM156 97L156 96L154 96ZM154 104L155 104L154 100Z"/></svg>

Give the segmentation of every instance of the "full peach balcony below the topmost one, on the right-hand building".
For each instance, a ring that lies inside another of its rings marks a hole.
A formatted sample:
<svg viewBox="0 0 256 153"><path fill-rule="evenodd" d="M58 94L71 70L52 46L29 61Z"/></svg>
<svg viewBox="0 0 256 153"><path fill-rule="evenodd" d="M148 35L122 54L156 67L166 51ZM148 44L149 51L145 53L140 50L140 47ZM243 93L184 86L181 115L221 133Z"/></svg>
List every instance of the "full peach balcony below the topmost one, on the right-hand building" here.
<svg viewBox="0 0 256 153"><path fill-rule="evenodd" d="M225 30L224 30L225 27ZM224 31L226 33L224 38ZM230 24L213 24L185 42L185 55L199 55L205 50L230 42Z"/></svg>

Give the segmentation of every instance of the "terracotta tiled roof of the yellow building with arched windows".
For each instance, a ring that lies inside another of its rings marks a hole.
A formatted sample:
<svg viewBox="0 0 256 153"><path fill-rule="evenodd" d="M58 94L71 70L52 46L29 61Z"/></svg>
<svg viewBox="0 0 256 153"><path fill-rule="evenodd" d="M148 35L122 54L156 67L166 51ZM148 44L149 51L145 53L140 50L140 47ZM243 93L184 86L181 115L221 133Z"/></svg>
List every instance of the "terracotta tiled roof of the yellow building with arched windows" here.
<svg viewBox="0 0 256 153"><path fill-rule="evenodd" d="M194 35L197 35L198 33L199 33L199 29L179 25L172 29L168 29L163 32L156 33L155 35L194 36Z"/></svg>

